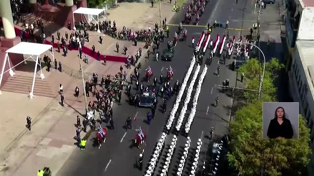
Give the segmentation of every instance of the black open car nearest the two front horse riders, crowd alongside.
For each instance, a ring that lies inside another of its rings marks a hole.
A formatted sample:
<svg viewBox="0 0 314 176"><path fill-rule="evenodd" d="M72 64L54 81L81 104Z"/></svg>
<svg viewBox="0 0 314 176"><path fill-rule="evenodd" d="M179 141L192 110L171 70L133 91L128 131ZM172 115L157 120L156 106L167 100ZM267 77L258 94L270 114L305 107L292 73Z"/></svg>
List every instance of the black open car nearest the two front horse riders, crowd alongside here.
<svg viewBox="0 0 314 176"><path fill-rule="evenodd" d="M157 102L157 88L148 86L148 91L144 91L139 98L138 106L140 107L154 107Z"/></svg>

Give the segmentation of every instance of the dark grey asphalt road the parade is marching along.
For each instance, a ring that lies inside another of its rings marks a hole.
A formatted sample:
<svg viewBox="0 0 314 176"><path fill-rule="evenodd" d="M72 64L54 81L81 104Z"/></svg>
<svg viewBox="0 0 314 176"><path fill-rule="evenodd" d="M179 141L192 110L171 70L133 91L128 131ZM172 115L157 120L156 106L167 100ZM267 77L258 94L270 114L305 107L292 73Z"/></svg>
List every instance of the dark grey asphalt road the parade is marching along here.
<svg viewBox="0 0 314 176"><path fill-rule="evenodd" d="M252 25L250 22L241 22L240 20L247 20L245 16L251 14L251 8L253 0L239 0L238 4L230 0L211 0L206 6L205 15L201 17L199 25L207 25L208 22L213 22L217 20L224 23L229 20L230 28L241 28L248 29ZM184 6L187 6L186 3ZM253 4L254 5L254 4ZM182 9L175 17L172 18L172 24L178 24L180 20L184 19L185 9ZM234 21L233 21L234 20ZM250 19L249 19L250 20ZM158 80L160 74L166 75L166 67L171 65L174 71L173 81L171 85L175 83L176 80L180 82L183 81L183 76L190 64L192 58L193 48L191 46L192 35L195 36L195 41L197 42L201 32L205 29L204 27L186 27L188 31L188 39L184 42L179 42L176 46L175 57L172 62L156 61L155 55L151 56L148 62L142 59L142 70L140 71L140 76L144 77L145 68L150 65L154 76L156 75ZM170 26L169 39L165 38L163 44L160 44L159 51L163 51L167 47L167 42L172 40L174 32L178 30L178 26ZM235 35L236 40L240 35L243 35L241 31L238 30L228 30L230 32L230 37ZM215 40L216 34L220 37L226 32L224 28L213 28L211 39ZM248 31L244 31L248 34ZM195 42L195 43L196 43ZM143 53L143 55L146 53ZM209 55L209 49L206 52L206 58ZM229 69L229 65L233 62L233 59L227 59L226 66L223 62L220 64L220 75L215 74L216 68L218 66L219 60L222 58L214 57L212 64L208 66L208 72L206 78L203 82L202 90L197 105L197 112L195 114L194 121L189 132L189 136L192 139L191 151L195 150L196 142L198 138L203 139L203 147L201 150L201 155L199 161L206 159L207 149L212 143L208 139L208 134L210 127L215 128L215 134L222 135L228 131L228 121L231 113L232 99L231 95L220 92L214 85L221 85L221 83L229 79L230 86L235 86L235 72ZM205 63L205 59L203 61ZM205 64L202 65L200 72L203 70ZM152 82L150 83L152 84ZM196 82L197 84L197 82ZM147 85L143 83L143 85ZM135 86L133 85L133 88ZM133 92L135 89L132 90ZM195 90L194 90L195 91ZM215 108L212 106L214 99L219 95L219 106ZM172 109L173 97L168 102L168 110ZM192 98L191 98L192 100ZM159 98L159 102L160 98ZM161 103L158 104L158 109ZM144 121L146 119L146 114L149 109L135 108L130 106L128 103L128 98L124 95L122 99L122 105L114 105L113 108L113 118L115 129L109 130L105 144L102 145L101 149L93 146L93 137L95 133L93 132L88 138L86 145L86 150L81 152L76 150L69 157L67 162L63 165L61 170L58 172L58 176L125 176L125 175L143 175L144 170L140 171L136 168L136 160L138 159L138 154L145 149L144 152L144 166L154 150L157 140L160 138L161 133L166 122L166 118L169 111L164 115L157 110L155 119L152 121L151 125L147 125ZM189 112L189 111L188 111ZM188 116L188 112L185 118ZM123 128L124 122L128 117L133 118L136 116L136 121L133 121L132 130L125 130ZM184 122L183 122L184 125ZM132 147L132 140L135 137L135 129L142 127L147 135L146 145L142 146L142 149L137 149ZM172 134L168 135L166 142L172 138ZM179 136L177 148L183 146L186 138L184 136ZM176 150L176 155L182 155L182 151ZM171 162L170 171L171 173L176 172L177 157ZM56 161L57 162L57 161ZM159 164L160 165L160 162ZM202 165L200 165L201 167ZM185 170L189 170L188 167ZM200 170L200 169L199 169ZM160 169L157 167L156 174L160 174Z"/></svg>

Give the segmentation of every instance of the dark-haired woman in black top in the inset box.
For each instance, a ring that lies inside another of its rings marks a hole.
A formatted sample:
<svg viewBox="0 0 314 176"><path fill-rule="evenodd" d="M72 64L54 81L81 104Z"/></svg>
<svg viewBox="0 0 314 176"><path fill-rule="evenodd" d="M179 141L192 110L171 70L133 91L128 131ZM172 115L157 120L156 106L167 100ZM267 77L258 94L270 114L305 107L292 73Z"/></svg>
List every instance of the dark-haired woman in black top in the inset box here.
<svg viewBox="0 0 314 176"><path fill-rule="evenodd" d="M293 129L290 120L286 118L285 110L278 107L275 111L275 118L270 120L267 136L270 139L291 139Z"/></svg>

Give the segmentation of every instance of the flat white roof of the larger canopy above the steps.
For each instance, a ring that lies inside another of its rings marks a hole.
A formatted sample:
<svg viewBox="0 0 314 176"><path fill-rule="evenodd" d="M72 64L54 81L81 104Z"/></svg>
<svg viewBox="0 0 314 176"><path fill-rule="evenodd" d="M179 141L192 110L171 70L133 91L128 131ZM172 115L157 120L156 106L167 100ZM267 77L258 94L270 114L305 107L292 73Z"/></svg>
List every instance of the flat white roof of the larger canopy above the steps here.
<svg viewBox="0 0 314 176"><path fill-rule="evenodd" d="M27 54L27 55L41 55L45 51L52 48L50 44L35 44L28 42L21 42L10 49L6 50L7 53Z"/></svg>

